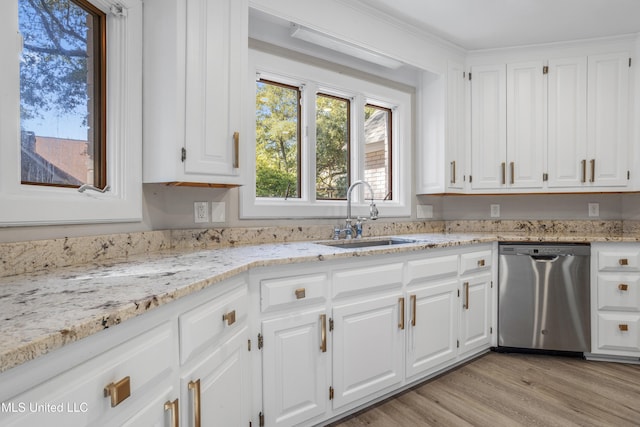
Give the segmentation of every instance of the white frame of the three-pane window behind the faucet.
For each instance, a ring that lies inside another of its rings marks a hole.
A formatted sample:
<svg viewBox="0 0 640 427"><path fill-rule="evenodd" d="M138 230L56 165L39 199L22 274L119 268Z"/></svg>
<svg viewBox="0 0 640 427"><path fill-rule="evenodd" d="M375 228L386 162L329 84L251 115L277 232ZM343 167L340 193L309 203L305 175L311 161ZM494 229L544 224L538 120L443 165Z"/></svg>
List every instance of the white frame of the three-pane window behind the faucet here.
<svg viewBox="0 0 640 427"><path fill-rule="evenodd" d="M351 100L351 182L364 177L364 106L373 104L392 111L393 200L376 201L380 217L411 216L411 117L412 95L378 83L341 74L258 50L249 50L250 88L247 117L255 118L256 80L285 83L302 88L301 197L256 197L255 144L247 145L244 162L252 176L240 188L240 218L344 218L346 200L315 200L315 95L324 93ZM255 119L247 120L246 134L255 141ZM357 191L356 191L357 190ZM352 215L368 216L370 197L363 186L352 196Z"/></svg>

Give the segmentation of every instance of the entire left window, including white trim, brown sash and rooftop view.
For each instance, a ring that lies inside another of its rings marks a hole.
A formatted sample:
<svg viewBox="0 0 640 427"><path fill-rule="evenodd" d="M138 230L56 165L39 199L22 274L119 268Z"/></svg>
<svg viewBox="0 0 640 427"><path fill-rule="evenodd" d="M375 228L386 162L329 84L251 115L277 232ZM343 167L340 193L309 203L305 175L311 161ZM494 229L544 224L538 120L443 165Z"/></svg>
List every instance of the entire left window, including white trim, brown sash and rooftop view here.
<svg viewBox="0 0 640 427"><path fill-rule="evenodd" d="M142 29L141 0L0 1L0 227L141 219Z"/></svg>

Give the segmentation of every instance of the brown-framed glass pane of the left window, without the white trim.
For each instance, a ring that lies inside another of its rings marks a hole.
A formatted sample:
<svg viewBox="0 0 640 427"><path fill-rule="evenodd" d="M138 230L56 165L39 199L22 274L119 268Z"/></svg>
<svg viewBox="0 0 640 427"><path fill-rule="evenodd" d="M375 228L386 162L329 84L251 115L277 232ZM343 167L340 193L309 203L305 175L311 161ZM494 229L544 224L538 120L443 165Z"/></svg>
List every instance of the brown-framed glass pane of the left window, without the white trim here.
<svg viewBox="0 0 640 427"><path fill-rule="evenodd" d="M19 0L23 184L106 185L106 15L86 0Z"/></svg>

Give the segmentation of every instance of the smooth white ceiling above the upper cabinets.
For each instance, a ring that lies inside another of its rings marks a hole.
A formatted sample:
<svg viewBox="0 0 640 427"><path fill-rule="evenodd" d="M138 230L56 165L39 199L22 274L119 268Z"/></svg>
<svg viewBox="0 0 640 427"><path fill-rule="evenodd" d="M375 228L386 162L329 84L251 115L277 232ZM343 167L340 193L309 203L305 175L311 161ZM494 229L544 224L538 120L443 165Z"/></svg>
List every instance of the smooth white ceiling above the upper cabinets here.
<svg viewBox="0 0 640 427"><path fill-rule="evenodd" d="M361 0L467 50L640 33L640 0Z"/></svg>

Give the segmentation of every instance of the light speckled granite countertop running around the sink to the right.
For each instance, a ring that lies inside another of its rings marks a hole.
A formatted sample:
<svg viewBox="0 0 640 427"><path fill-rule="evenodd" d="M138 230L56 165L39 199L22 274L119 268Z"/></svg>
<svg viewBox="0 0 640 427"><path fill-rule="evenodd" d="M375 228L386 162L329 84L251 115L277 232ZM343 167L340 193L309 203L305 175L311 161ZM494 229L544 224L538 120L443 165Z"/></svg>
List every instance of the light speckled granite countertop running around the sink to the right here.
<svg viewBox="0 0 640 427"><path fill-rule="evenodd" d="M507 234L408 234L415 243L343 249L313 242L162 251L0 278L0 372L251 268L495 241L638 241Z"/></svg>

